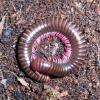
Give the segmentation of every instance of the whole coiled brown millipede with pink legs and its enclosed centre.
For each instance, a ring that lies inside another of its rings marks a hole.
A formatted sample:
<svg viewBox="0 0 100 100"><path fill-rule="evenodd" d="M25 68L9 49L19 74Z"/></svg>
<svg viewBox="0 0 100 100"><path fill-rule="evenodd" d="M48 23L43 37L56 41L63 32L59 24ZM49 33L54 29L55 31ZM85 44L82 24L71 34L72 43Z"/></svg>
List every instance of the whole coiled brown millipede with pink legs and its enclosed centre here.
<svg viewBox="0 0 100 100"><path fill-rule="evenodd" d="M86 56L84 36L75 25L49 17L23 32L18 44L21 67L31 78L46 82L82 66Z"/></svg>

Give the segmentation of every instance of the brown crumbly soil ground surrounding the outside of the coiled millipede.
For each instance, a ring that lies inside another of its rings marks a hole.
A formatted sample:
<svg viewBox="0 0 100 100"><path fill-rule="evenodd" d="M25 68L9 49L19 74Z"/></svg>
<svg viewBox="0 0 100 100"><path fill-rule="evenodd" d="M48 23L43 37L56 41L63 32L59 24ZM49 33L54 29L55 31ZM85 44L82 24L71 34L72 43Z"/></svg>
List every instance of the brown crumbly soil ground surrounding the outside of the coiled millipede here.
<svg viewBox="0 0 100 100"><path fill-rule="evenodd" d="M20 70L16 45L23 28L51 15L79 27L87 58L78 72L38 83ZM100 100L100 0L0 0L0 20L0 100Z"/></svg>

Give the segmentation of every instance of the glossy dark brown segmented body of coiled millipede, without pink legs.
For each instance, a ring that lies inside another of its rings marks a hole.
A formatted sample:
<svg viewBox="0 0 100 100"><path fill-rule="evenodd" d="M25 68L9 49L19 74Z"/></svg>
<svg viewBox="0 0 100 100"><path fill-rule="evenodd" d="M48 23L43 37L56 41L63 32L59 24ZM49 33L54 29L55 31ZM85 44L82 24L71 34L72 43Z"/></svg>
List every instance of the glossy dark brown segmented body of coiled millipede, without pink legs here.
<svg viewBox="0 0 100 100"><path fill-rule="evenodd" d="M69 59L62 64L38 57L33 59L32 46L36 38L54 31L62 33L70 41L71 55ZM86 56L86 42L75 25L66 19L52 16L26 29L19 41L18 56L21 67L31 78L48 81L51 79L49 75L65 76L70 70L82 66Z"/></svg>

